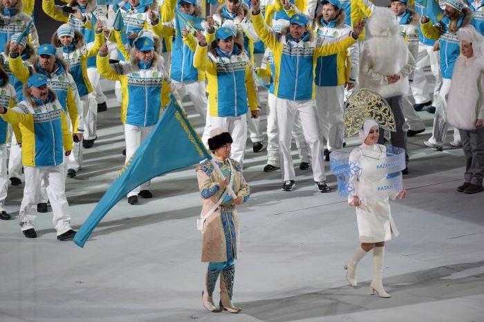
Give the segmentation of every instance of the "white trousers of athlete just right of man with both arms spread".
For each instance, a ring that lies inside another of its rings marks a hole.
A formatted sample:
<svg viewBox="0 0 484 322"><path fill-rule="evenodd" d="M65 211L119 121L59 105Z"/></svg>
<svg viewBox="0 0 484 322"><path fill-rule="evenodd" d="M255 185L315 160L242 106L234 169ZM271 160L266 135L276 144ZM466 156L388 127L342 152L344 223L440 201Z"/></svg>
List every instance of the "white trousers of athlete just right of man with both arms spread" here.
<svg viewBox="0 0 484 322"><path fill-rule="evenodd" d="M316 104L321 137L329 151L342 149L344 142L344 86L316 86Z"/></svg>

